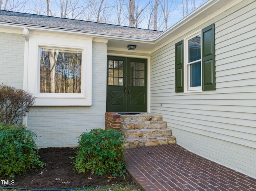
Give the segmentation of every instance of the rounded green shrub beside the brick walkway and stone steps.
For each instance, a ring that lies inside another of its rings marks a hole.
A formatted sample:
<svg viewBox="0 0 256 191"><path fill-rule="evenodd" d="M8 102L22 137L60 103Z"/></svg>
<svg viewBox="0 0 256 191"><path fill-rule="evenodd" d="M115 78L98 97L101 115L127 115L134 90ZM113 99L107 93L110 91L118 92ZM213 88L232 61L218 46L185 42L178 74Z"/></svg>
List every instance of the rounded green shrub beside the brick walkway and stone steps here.
<svg viewBox="0 0 256 191"><path fill-rule="evenodd" d="M123 134L114 129L93 129L82 134L74 157L74 171L122 176L126 172L123 143Z"/></svg>

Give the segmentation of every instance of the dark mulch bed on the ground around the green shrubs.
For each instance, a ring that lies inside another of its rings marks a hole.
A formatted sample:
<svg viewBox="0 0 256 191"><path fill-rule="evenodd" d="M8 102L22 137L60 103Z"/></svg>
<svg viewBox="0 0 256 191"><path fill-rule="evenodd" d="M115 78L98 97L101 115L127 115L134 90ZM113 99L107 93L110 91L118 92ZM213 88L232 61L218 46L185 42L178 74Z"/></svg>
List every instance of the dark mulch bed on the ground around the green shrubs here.
<svg viewBox="0 0 256 191"><path fill-rule="evenodd" d="M126 173L123 177L112 178L110 175L92 175L90 172L77 173L72 170L72 159L76 156L72 148L44 148L40 149L40 160L46 163L44 168L36 172L27 173L15 180L14 187L37 189L70 189L81 187L97 187L115 183L134 185L134 181Z"/></svg>

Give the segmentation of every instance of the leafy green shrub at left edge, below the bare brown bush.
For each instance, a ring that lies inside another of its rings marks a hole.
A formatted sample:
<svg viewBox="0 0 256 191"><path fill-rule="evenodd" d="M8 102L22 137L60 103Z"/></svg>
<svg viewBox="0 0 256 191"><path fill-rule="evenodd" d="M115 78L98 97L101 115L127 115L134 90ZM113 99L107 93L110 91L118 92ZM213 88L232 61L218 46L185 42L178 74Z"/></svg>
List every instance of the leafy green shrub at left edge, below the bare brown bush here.
<svg viewBox="0 0 256 191"><path fill-rule="evenodd" d="M38 148L34 142L36 134L26 127L0 124L0 178L15 177L26 171L43 167Z"/></svg>

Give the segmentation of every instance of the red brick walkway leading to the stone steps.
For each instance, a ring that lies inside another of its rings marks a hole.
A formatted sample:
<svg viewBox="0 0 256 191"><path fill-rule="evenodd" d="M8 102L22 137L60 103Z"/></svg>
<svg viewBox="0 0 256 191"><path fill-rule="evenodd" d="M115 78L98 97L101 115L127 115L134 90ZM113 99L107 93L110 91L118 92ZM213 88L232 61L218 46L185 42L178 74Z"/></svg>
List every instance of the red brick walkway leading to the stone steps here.
<svg viewBox="0 0 256 191"><path fill-rule="evenodd" d="M126 149L126 161L144 191L256 191L256 179L177 144Z"/></svg>

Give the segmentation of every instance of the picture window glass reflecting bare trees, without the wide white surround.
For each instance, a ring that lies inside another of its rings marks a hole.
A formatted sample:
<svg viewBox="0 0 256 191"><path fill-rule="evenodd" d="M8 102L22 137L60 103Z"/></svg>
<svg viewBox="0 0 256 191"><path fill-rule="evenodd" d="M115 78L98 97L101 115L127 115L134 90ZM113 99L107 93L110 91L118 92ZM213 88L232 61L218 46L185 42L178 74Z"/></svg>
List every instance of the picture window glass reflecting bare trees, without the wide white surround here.
<svg viewBox="0 0 256 191"><path fill-rule="evenodd" d="M82 51L40 48L40 93L81 93Z"/></svg>

